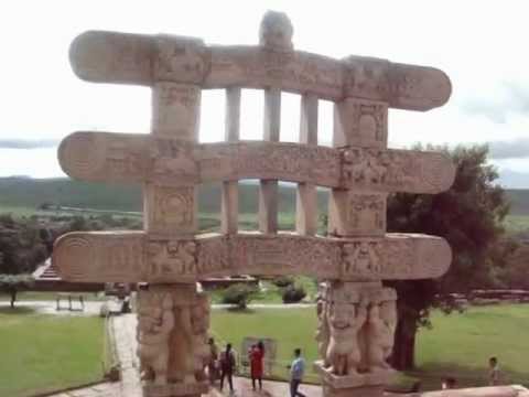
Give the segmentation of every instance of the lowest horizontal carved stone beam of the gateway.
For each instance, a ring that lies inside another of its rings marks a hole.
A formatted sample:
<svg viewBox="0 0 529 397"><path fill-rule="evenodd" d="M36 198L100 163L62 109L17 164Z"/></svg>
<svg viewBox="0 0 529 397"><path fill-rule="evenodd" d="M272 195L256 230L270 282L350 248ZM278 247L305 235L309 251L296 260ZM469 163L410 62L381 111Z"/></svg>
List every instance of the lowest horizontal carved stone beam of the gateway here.
<svg viewBox="0 0 529 397"><path fill-rule="evenodd" d="M387 234L327 238L291 233L203 234L182 238L144 232L74 232L55 243L53 264L78 282L194 282L231 275L307 275L371 281L442 276L452 253L441 237Z"/></svg>

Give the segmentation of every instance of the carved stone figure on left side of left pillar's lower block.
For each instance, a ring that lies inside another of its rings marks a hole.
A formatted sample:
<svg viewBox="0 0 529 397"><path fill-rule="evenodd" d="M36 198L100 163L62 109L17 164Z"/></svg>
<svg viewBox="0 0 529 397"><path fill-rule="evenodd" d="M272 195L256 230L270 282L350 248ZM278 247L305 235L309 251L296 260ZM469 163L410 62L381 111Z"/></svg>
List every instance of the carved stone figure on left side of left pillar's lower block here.
<svg viewBox="0 0 529 397"><path fill-rule="evenodd" d="M160 303L161 308L140 308L138 356L142 379L164 385L168 383L169 339L174 328L171 294L164 294Z"/></svg>

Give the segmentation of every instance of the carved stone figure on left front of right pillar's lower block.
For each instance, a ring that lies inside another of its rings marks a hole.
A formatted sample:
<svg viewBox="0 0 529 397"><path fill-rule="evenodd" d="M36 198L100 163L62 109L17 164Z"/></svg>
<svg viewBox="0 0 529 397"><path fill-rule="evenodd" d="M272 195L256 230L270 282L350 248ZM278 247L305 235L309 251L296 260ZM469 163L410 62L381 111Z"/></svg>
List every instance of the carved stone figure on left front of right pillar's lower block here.
<svg viewBox="0 0 529 397"><path fill-rule="evenodd" d="M360 363L358 331L367 316L367 302L356 304L332 301L328 305L330 340L326 362L335 375L355 375Z"/></svg>

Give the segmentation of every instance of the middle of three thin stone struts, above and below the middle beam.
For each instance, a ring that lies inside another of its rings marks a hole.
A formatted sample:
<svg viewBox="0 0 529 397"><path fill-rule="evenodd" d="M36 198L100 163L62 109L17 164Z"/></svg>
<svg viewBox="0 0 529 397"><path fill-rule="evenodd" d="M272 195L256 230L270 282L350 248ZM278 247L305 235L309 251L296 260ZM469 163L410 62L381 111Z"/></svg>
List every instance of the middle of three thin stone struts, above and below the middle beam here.
<svg viewBox="0 0 529 397"><path fill-rule="evenodd" d="M281 89L264 90L263 140L279 141L281 128ZM278 232L278 181L262 180L259 189L259 230L264 234Z"/></svg>

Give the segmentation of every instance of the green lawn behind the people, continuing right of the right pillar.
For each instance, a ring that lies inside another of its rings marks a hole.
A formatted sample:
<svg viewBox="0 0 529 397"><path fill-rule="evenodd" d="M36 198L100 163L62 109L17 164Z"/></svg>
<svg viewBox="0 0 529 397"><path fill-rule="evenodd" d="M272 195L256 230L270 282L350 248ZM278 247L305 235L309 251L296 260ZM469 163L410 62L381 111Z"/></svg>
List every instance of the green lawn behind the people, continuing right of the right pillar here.
<svg viewBox="0 0 529 397"><path fill-rule="evenodd" d="M485 385L492 355L498 356L506 383L528 383L529 305L471 308L452 315L434 312L432 322L433 329L423 329L418 335L418 369L407 374L420 378L423 389L440 388L446 376L454 376L462 386ZM215 310L212 314L213 334L237 350L245 336L276 339L281 363L274 368L276 376L287 375L284 365L296 346L307 362L316 358L315 330L314 309ZM317 380L309 369L309 380Z"/></svg>

